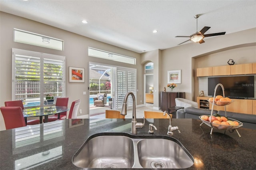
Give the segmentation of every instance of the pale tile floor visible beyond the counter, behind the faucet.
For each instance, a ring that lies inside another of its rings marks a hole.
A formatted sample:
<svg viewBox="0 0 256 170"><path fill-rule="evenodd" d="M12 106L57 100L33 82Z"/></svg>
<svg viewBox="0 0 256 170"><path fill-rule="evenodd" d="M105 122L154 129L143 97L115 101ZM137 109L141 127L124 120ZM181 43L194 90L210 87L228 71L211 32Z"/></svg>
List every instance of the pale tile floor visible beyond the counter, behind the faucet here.
<svg viewBox="0 0 256 170"><path fill-rule="evenodd" d="M144 111L159 111L162 112L161 110L154 110L153 109L153 104L151 103L146 103L146 106L144 107L138 107L136 108L136 118L141 119L144 117ZM106 117L105 114L101 115L95 115L91 116L91 119L104 119ZM132 109L127 110L127 115L125 116L127 119L132 119Z"/></svg>

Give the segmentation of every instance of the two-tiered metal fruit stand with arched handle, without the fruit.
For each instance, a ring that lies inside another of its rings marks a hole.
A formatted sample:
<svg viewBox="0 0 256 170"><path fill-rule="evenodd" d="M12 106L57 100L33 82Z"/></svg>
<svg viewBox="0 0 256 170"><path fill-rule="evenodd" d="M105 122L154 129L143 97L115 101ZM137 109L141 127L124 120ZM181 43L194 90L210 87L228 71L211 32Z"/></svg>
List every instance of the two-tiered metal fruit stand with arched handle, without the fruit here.
<svg viewBox="0 0 256 170"><path fill-rule="evenodd" d="M210 115L210 121L205 121L205 120L201 119L201 116L199 116L199 119L202 121L202 123L200 124L200 126L202 126L202 124L205 123L206 125L208 125L209 127L211 127L210 134L212 134L213 128L217 128L217 129L220 129L220 130L224 130L224 133L226 132L226 130L229 130L230 132L234 132L234 130L236 130L238 136L241 137L240 134L239 134L238 131L237 131L237 128L242 127L242 126L243 126L243 123L241 123L240 121L237 121L237 120L235 120L235 119L228 118L228 117L227 117L227 113L226 113L226 105L230 105L230 104L233 102L233 100L231 100L231 101L215 101L216 89L217 89L219 86L222 88L223 97L225 97L223 85L220 84L220 83L217 84L216 87L215 87L215 89L214 89L213 101L209 101L209 100L208 100L209 103L212 104L212 111L211 111L211 115ZM224 106L224 109L225 109L225 117L227 117L227 119L230 120L230 121L237 121L237 122L238 122L238 125L221 125L221 124L217 124L217 123L212 123L211 121L212 121L212 113L213 113L213 106L214 106L214 105L216 105L216 106Z"/></svg>

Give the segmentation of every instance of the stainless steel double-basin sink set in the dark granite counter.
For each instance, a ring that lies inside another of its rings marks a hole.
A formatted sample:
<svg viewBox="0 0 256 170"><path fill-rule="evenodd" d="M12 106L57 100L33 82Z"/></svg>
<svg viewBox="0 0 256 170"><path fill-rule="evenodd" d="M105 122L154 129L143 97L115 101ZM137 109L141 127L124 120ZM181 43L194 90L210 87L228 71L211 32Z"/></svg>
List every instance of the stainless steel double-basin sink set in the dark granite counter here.
<svg viewBox="0 0 256 170"><path fill-rule="evenodd" d="M194 158L172 137L110 132L90 136L72 162L81 168L189 168Z"/></svg>

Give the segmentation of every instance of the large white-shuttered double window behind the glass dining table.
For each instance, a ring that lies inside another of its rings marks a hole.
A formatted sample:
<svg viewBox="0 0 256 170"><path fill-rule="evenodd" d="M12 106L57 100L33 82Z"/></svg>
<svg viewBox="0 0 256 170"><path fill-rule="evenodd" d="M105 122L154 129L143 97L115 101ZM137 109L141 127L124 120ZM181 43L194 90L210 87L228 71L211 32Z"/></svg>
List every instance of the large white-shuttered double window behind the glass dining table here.
<svg viewBox="0 0 256 170"><path fill-rule="evenodd" d="M12 49L12 100L41 107L65 97L65 57Z"/></svg>

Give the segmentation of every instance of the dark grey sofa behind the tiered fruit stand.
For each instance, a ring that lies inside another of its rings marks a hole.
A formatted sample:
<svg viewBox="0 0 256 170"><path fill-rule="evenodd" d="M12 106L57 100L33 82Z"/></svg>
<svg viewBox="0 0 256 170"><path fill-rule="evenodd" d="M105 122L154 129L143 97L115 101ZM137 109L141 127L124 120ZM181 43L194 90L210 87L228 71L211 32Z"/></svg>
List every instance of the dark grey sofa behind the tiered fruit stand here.
<svg viewBox="0 0 256 170"><path fill-rule="evenodd" d="M200 115L211 115L210 109L199 109L195 107L187 107L177 111L177 119L199 119ZM243 123L244 128L250 128L256 130L256 115L248 115L243 113L226 112L227 117L236 119ZM219 114L225 116L225 111L213 110L212 114Z"/></svg>

